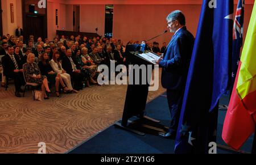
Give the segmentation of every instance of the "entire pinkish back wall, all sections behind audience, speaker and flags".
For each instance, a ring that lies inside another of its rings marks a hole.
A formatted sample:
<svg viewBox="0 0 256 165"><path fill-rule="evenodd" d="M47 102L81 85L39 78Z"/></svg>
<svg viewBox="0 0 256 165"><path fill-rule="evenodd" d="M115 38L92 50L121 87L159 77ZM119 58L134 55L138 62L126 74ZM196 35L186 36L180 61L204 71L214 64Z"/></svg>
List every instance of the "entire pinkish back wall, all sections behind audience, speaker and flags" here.
<svg viewBox="0 0 256 165"><path fill-rule="evenodd" d="M59 9L59 29L73 30L72 26L72 6L80 4L80 31L96 32L104 35L105 28L105 4L114 4L114 24L113 34L115 38L122 39L127 43L128 40L147 40L158 35L166 29L166 16L172 11L179 9L184 12L187 18L187 27L189 31L196 35L197 24L201 9L201 0L195 1L134 1L134 0L107 0L107 1L81 1L81 0L48 0L53 2L53 10L48 9L48 15L52 15L52 19L48 19L48 36L51 39L55 36L55 9ZM238 0L234 0L237 3ZM167 5L132 5L132 4L167 4ZM245 6L245 25L244 32L246 34L250 20L251 11L254 0L247 0ZM67 5L68 4L68 5ZM94 5L92 5L94 4ZM95 5L98 4L98 5ZM125 4L125 5L122 5ZM168 5L169 4L169 5ZM183 5L174 5L183 4ZM186 5L187 4L187 5ZM236 10L236 5L234 7ZM146 14L145 14L146 13ZM50 26L50 25L51 26ZM172 34L167 33L156 39L162 45L163 41L170 41Z"/></svg>

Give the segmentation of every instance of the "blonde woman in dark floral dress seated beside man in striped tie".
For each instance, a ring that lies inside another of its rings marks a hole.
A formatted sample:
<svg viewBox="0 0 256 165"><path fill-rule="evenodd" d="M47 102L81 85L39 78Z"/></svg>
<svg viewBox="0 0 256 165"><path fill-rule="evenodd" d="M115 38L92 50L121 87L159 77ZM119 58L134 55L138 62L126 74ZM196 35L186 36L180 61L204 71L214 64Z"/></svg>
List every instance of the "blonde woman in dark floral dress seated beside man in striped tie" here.
<svg viewBox="0 0 256 165"><path fill-rule="evenodd" d="M38 64L35 63L35 54L30 53L27 56L27 63L23 66L24 75L27 82L38 83L42 87L44 92L44 99L49 99L46 94L46 91L50 93L48 86L48 80L45 75L41 75Z"/></svg>

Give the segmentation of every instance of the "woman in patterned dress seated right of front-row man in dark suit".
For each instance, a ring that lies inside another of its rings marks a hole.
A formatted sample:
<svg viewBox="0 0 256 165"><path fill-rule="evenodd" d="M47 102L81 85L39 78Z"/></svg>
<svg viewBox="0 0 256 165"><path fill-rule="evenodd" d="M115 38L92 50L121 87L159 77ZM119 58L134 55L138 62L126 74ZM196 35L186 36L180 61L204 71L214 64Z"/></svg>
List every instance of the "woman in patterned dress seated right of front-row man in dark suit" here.
<svg viewBox="0 0 256 165"><path fill-rule="evenodd" d="M87 48L82 48L81 51L82 51L81 60L82 60L82 63L84 64L84 69L89 71L90 82L93 83L93 84L96 84L97 82L94 81L93 78L96 76L98 67L97 67L97 65L95 65L93 63L93 60L88 55L88 49Z"/></svg>

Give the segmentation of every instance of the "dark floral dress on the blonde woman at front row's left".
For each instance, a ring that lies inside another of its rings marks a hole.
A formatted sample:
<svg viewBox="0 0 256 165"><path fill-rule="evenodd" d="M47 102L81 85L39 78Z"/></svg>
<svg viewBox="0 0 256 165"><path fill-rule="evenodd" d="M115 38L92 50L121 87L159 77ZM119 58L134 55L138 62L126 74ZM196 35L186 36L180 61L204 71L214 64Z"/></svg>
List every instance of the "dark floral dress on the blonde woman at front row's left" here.
<svg viewBox="0 0 256 165"><path fill-rule="evenodd" d="M29 83L42 84L44 79L46 78L45 75L41 75L38 64L36 64L35 62L32 64L29 64L29 63L24 64L23 71L24 71L26 81ZM39 74L41 75L41 78L33 77L33 75L39 75Z"/></svg>

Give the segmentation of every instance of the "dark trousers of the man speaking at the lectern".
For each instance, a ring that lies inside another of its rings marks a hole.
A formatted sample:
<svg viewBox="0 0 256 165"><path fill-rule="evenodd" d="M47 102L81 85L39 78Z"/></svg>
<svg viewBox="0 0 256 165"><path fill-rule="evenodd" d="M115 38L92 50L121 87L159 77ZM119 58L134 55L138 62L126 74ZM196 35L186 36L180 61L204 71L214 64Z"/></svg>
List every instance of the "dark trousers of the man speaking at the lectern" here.
<svg viewBox="0 0 256 165"><path fill-rule="evenodd" d="M183 96L184 96L183 90L167 89L167 100L168 100L168 105L171 113L171 124L169 128L170 133L176 134L177 132L177 127L179 126Z"/></svg>

